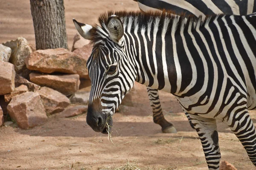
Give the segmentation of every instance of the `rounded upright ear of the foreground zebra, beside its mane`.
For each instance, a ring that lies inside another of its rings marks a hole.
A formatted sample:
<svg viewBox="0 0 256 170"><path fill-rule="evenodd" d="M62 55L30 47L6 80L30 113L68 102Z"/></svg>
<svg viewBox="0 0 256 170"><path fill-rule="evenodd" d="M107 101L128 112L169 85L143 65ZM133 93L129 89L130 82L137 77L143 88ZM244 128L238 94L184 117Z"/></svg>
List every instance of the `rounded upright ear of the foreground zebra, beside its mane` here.
<svg viewBox="0 0 256 170"><path fill-rule="evenodd" d="M109 36L111 40L113 40L114 42L119 42L124 34L124 27L120 18L116 15L111 15L111 17L108 18L107 27L110 33Z"/></svg>

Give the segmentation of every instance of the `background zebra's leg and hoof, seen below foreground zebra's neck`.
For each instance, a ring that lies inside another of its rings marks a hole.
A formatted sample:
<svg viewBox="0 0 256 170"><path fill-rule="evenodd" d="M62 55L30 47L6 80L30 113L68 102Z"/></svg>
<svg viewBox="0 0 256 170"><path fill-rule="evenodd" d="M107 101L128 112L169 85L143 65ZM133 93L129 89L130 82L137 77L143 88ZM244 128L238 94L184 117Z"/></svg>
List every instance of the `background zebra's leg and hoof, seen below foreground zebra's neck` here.
<svg viewBox="0 0 256 170"><path fill-rule="evenodd" d="M153 110L153 120L154 123L162 127L163 133L177 133L177 130L169 123L163 116L163 111L158 95L158 91L154 88L147 87L148 98L150 101L151 108Z"/></svg>

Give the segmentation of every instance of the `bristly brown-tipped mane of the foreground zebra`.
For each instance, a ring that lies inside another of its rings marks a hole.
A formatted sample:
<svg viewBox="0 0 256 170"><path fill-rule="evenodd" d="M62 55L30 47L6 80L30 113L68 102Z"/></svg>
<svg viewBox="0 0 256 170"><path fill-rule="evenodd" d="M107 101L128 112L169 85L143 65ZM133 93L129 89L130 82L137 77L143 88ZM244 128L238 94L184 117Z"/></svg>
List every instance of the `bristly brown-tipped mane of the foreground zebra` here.
<svg viewBox="0 0 256 170"><path fill-rule="evenodd" d="M173 11L149 11L142 13L141 11L108 11L99 16L99 25L93 26L90 35L93 37L91 44L95 44L100 40L108 37L107 23L111 15L117 15L124 26L124 31L130 32L137 29L138 32L147 30L153 24L158 24L158 30L164 29L166 19L168 20L166 31L182 30L193 31L196 27L204 26L205 23L213 21L216 17L223 15L209 15L204 19L202 16L196 17L195 15L179 14L176 15ZM153 32L153 29L150 31Z"/></svg>

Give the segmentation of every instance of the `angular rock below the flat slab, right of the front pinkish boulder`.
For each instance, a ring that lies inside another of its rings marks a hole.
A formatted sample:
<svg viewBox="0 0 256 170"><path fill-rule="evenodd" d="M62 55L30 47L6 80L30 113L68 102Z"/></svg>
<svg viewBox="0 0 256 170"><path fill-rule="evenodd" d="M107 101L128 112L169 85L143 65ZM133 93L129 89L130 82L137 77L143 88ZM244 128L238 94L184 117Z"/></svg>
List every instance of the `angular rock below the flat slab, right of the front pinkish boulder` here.
<svg viewBox="0 0 256 170"><path fill-rule="evenodd" d="M66 96L52 88L42 87L37 93L41 97L45 111L49 114L61 112L70 105L70 100Z"/></svg>

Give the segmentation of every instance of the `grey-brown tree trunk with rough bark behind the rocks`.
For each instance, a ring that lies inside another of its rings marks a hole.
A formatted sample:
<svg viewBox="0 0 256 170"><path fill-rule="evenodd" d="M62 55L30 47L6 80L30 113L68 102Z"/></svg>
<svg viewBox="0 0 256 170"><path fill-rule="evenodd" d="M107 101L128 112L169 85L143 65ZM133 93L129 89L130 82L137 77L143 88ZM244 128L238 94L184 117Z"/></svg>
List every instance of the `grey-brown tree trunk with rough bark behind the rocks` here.
<svg viewBox="0 0 256 170"><path fill-rule="evenodd" d="M30 0L36 49L67 48L64 0Z"/></svg>

